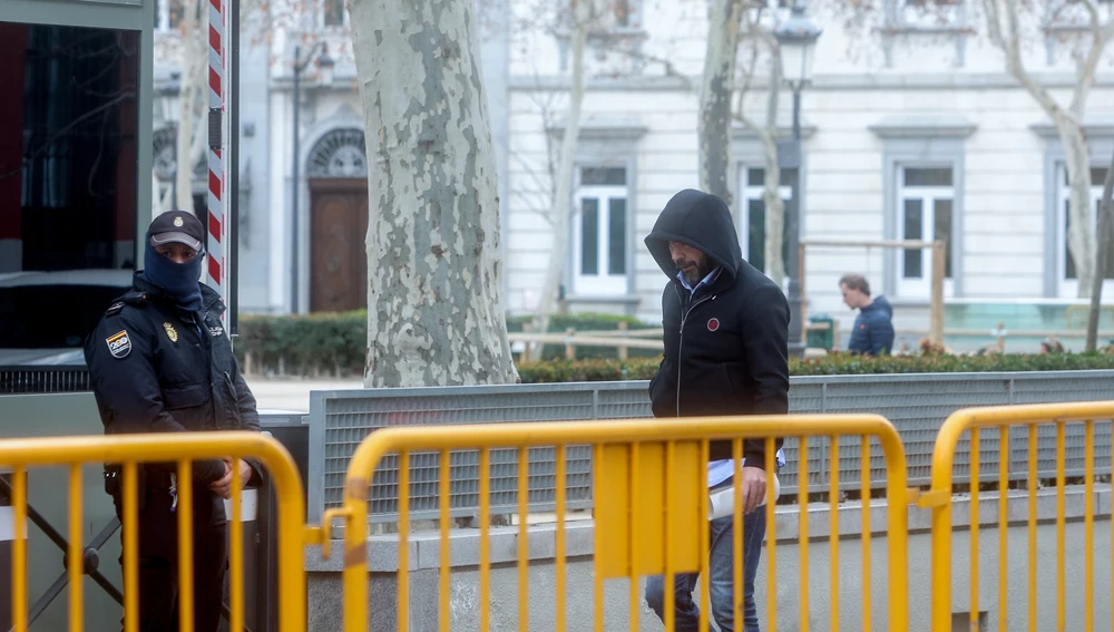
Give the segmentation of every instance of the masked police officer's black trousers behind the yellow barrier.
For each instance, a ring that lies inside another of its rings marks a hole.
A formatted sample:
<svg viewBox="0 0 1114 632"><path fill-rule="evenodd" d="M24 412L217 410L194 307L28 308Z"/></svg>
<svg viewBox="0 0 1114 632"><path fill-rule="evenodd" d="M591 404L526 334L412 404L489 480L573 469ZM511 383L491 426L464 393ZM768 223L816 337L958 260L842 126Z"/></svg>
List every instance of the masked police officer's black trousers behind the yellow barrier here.
<svg viewBox="0 0 1114 632"><path fill-rule="evenodd" d="M141 493L141 492L140 492ZM194 516L194 630L216 632L224 602L225 571L228 563L225 524L211 524L211 493L194 488L198 496ZM139 630L177 632L178 630L178 516L170 511L167 490L148 490L146 506L139 512ZM116 512L124 523L123 505L117 497ZM123 529L120 543L123 546ZM120 557L120 564L124 557Z"/></svg>

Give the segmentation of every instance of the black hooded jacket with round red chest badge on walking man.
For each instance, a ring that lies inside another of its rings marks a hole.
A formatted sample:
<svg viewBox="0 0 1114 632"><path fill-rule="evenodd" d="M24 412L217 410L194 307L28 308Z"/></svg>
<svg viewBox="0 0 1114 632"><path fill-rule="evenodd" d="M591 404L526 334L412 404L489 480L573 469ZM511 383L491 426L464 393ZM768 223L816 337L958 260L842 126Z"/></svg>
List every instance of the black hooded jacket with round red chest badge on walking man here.
<svg viewBox="0 0 1114 632"><path fill-rule="evenodd" d="M698 249L713 269L722 269L691 301L670 242ZM646 247L670 278L662 295L665 359L649 382L654 416L786 414L789 302L781 288L743 261L723 200L693 189L676 194ZM743 451L746 465L764 467L762 439L747 440ZM731 458L731 443L713 443L711 458Z"/></svg>

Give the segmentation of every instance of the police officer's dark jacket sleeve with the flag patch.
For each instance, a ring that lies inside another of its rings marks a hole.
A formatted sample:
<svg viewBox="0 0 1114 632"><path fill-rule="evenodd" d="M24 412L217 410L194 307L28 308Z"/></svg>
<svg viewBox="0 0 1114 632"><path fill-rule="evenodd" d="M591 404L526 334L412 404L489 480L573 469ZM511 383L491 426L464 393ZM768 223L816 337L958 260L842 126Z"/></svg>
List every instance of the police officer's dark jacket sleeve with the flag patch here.
<svg viewBox="0 0 1114 632"><path fill-rule="evenodd" d="M92 332L86 348L92 390L113 432L187 432L185 426L163 406L155 370L153 334L141 315L125 313L106 317ZM107 340L124 333L127 350L114 356ZM174 467L174 466L170 466ZM194 479L212 483L224 476L219 460L194 463Z"/></svg>

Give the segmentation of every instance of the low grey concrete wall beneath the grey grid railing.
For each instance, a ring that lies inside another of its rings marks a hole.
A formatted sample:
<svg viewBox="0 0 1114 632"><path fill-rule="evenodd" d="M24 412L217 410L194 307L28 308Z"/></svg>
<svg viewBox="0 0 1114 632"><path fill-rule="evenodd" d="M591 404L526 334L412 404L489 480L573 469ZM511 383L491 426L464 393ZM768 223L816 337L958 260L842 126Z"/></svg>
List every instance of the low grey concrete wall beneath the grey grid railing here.
<svg viewBox="0 0 1114 632"><path fill-rule="evenodd" d="M1067 568L1066 630L1083 630L1084 597L1083 568L1086 560L1097 560L1095 564L1095 630L1111 628L1111 612L1104 604L1112 589L1111 560L1111 493L1104 486L1095 493L1094 507L1098 519L1095 525L1093 551L1084 550L1084 494L1082 487L1069 487L1065 495L1065 529L1067 544L1065 563ZM890 576L887 571L886 504L871 505L870 539L870 615L871 629L888 628L887 616L890 602L888 594ZM1040 492L1037 503L1037 629L1056 629L1056 512L1055 490ZM1027 621L1028 528L1026 525L1028 500L1025 493L1012 493L1008 508L1010 522L1008 531L1007 604L1009 629L1020 629ZM985 524L979 536L979 611L987 612L989 625L997 629L997 618L1003 612L998 603L998 532L997 496L984 494L979 503L980 522ZM863 572L863 539L861 537L861 506L844 503L839 509L839 620L841 630L862 630L863 606L867 590ZM909 556L909 621L910 630L927 630L931 606L931 535L930 517L927 509L910 507L908 541ZM795 507L779 507L776 519L778 546L775 548L778 630L801 629L802 585L800 577L808 575L809 626L827 628L832 615L831 591L831 514L827 505L813 504L809 508L810 542L807 550L800 545L799 514ZM954 504L952 524L964 525L970 521L970 502L957 497ZM566 618L568 630L590 630L595 618L594 575L592 563L594 527L592 522L570 523L567 529L567 601ZM480 607L485 604L479 594L478 545L475 531L451 533L450 560L451 580L449 610L453 630L476 630ZM529 532L529 629L554 630L556 606L556 567L554 563L553 525L532 526ZM490 551L492 570L490 575L490 629L512 630L518 625L518 567L517 527L492 529ZM414 534L409 543L410 573L410 623L416 632L437 630L438 622L438 568L440 565L440 542L437 533ZM342 546L333 542L331 560L321 560L320 551L306 552L309 572L310 629L334 630L341 621ZM802 564L802 553L807 553L808 571ZM398 541L393 536L375 536L368 541L369 555L369 630L393 630L397 615L397 592L394 574L398 571ZM969 532L957 531L952 543L952 612L959 613L959 625L965 624L970 611L970 538ZM763 628L769 616L766 590L768 557L763 553L759 573L758 600ZM642 582L639 582L642 583ZM661 630L662 624L642 601L642 586L637 593L635 609L639 629ZM604 629L632 629L629 584L623 580L605 582ZM960 626L955 628L961 629ZM966 628L962 628L966 629Z"/></svg>

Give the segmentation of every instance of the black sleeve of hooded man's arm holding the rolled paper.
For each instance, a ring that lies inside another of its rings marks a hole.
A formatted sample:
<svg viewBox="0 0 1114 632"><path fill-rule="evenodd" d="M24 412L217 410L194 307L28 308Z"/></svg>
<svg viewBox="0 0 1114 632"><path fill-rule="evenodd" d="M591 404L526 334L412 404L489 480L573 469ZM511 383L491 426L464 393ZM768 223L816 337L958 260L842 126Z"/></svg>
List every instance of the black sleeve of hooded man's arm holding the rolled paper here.
<svg viewBox="0 0 1114 632"><path fill-rule="evenodd" d="M754 292L744 314L747 376L754 385L754 415L789 412L789 301L776 285ZM783 439L774 446L781 449ZM747 439L743 447L746 465L765 467L764 439Z"/></svg>

